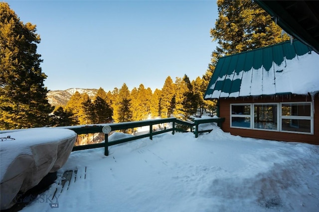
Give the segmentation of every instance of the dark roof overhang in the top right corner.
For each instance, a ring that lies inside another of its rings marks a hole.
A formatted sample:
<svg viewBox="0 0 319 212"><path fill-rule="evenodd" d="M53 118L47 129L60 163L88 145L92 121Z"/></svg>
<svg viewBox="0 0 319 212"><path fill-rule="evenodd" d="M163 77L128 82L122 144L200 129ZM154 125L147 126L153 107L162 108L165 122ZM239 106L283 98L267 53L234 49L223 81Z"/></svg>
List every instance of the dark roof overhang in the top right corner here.
<svg viewBox="0 0 319 212"><path fill-rule="evenodd" d="M288 34L319 54L319 3L312 0L255 0Z"/></svg>

